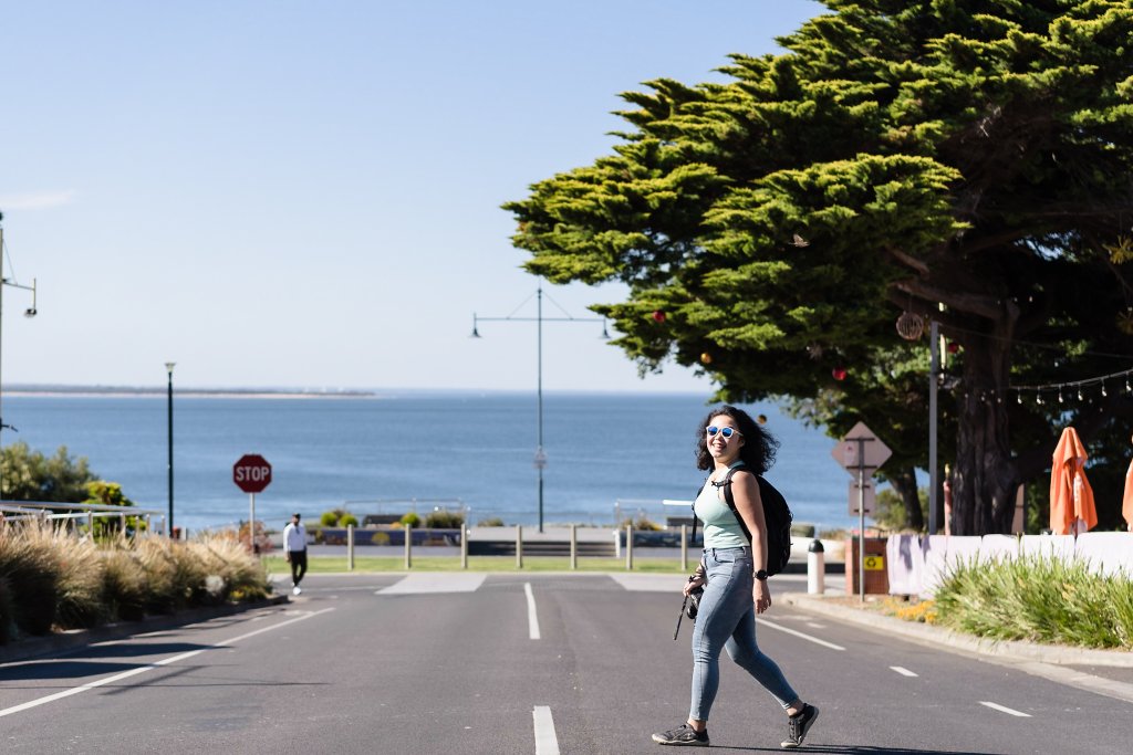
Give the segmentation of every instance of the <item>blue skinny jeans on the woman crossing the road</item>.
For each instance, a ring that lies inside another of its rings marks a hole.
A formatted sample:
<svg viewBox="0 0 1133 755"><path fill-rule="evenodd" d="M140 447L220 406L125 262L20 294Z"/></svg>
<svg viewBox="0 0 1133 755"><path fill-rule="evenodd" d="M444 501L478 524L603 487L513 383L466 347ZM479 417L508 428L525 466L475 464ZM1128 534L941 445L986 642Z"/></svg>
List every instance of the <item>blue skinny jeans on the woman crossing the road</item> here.
<svg viewBox="0 0 1133 755"><path fill-rule="evenodd" d="M780 667L756 644L750 548L705 550L708 584L692 630L692 704L689 718L707 721L719 689L719 652L727 654L786 710L799 698Z"/></svg>

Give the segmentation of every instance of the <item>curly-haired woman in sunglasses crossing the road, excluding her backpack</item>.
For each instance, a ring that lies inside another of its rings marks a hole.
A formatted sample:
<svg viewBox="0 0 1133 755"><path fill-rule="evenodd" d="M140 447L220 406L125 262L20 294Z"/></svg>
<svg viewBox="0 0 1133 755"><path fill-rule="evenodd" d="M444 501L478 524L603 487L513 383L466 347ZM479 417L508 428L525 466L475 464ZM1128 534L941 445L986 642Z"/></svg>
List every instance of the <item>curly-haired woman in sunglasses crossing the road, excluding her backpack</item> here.
<svg viewBox="0 0 1133 755"><path fill-rule="evenodd" d="M787 714L790 727L782 747L802 745L818 718L818 709L804 703L784 678L780 667L756 644L756 614L772 604L767 586L767 527L759 499L757 474L775 458L777 443L734 406L710 412L698 429L697 466L710 470L693 509L704 522L704 558L695 577L684 586L688 595L704 585L704 595L692 630L692 703L688 721L653 735L662 745L708 746L708 714L719 688L719 653L729 657L759 683ZM727 506L724 484L732 473L735 512ZM751 540L736 518L742 516Z"/></svg>

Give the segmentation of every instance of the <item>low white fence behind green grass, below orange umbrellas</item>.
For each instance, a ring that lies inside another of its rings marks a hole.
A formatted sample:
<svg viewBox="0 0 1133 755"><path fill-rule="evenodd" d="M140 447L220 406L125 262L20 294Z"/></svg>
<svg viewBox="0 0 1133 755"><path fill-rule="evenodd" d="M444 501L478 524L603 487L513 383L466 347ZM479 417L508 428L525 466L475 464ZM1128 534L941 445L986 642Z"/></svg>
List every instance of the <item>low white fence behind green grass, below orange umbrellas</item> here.
<svg viewBox="0 0 1133 755"><path fill-rule="evenodd" d="M1081 559L1098 574L1124 574L1133 578L1133 532L1087 532L1076 538L1070 534L889 535L885 554L889 594L931 598L944 578L961 564L1021 556Z"/></svg>

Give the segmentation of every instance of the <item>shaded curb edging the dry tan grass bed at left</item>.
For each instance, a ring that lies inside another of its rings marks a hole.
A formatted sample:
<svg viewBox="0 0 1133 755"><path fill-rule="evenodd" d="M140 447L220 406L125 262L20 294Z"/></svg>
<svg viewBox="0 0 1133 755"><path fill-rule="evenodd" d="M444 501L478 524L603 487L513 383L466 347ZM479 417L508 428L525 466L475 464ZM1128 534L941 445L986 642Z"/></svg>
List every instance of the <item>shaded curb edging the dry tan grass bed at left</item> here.
<svg viewBox="0 0 1133 755"><path fill-rule="evenodd" d="M254 603L235 603L228 606L210 606L206 608L194 608L169 616L147 616L140 621L120 621L118 624L107 624L91 629L68 629L45 637L29 637L7 645L0 645L0 663L11 663L14 661L25 661L60 653L75 647L93 645L97 642L121 640L133 635L145 634L147 632L160 632L171 629L198 621L232 616L244 611L280 606L289 602L287 595L273 595Z"/></svg>

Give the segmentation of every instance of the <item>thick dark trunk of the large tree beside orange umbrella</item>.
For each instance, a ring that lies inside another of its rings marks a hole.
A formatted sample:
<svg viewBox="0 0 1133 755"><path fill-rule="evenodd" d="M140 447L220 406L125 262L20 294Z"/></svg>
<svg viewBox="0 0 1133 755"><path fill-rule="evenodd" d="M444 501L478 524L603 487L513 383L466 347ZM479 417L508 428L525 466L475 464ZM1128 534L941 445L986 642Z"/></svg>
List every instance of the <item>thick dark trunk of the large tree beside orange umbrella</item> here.
<svg viewBox="0 0 1133 755"><path fill-rule="evenodd" d="M1003 323L1007 331L1008 323ZM1011 532L1019 472L1011 456L1006 388L1010 338L970 334L963 380L956 388L960 422L952 475L952 534Z"/></svg>

